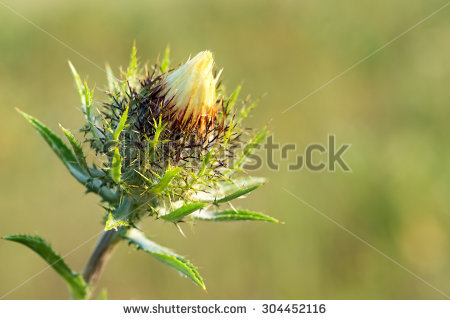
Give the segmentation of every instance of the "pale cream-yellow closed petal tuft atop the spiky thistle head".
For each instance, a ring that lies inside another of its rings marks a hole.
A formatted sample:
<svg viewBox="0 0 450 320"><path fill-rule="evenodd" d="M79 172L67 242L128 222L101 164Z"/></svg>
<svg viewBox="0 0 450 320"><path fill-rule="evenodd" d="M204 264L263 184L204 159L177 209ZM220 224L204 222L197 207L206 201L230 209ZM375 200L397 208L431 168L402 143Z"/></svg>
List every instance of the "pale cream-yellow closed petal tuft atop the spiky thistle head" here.
<svg viewBox="0 0 450 320"><path fill-rule="evenodd" d="M173 71L162 81L159 96L169 125L180 131L205 134L216 118L216 84L214 59L203 51Z"/></svg>

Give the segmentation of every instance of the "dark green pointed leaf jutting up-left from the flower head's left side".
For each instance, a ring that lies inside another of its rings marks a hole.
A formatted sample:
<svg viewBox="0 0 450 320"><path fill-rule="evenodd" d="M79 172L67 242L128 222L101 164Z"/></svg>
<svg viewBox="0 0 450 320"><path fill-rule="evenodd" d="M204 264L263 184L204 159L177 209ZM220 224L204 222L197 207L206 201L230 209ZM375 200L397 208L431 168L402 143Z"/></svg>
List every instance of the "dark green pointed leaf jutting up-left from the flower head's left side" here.
<svg viewBox="0 0 450 320"><path fill-rule="evenodd" d="M83 170L83 168L79 165L76 157L72 153L72 151L66 146L64 142L54 134L49 128L47 128L43 123L34 117L26 114L25 112L17 111L27 120L44 138L47 144L52 148L52 150L56 153L58 158L63 162L69 172L82 184L86 184L89 175Z"/></svg>

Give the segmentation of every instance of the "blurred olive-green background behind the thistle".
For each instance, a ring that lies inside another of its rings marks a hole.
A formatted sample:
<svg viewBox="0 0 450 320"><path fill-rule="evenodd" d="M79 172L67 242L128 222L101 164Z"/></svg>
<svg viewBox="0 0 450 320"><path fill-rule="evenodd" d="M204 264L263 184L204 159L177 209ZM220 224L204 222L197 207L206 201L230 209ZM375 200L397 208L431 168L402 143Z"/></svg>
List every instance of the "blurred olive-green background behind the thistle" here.
<svg viewBox="0 0 450 320"><path fill-rule="evenodd" d="M296 200L295 194L384 254L450 294L450 7L289 112L287 107L443 6L443 0L25 1L4 3L92 62L125 66L133 40L141 62L170 44L172 61L210 49L231 90L268 95L247 121L272 120L274 139L351 143L351 173L253 172L269 183L244 208L285 222L147 221L146 232L199 266L208 293L123 244L100 287L112 299L441 299L442 294ZM67 60L97 99L103 71L0 5L0 235L38 233L67 254L102 228L103 210L16 113L59 132L83 122ZM261 153L262 154L262 153ZM67 261L81 270L95 239ZM0 241L0 296L46 267ZM6 299L63 299L48 269Z"/></svg>

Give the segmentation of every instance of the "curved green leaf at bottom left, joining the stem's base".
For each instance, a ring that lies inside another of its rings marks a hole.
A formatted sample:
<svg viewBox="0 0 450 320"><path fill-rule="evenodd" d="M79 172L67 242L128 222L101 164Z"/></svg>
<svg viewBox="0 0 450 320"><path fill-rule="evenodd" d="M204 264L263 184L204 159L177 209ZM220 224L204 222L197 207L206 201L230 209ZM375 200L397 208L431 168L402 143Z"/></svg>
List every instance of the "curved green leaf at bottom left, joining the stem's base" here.
<svg viewBox="0 0 450 320"><path fill-rule="evenodd" d="M50 244L41 237L10 235L3 239L21 243L40 255L65 280L74 298L85 299L87 297L89 288L83 277L73 272L64 260L53 251Z"/></svg>

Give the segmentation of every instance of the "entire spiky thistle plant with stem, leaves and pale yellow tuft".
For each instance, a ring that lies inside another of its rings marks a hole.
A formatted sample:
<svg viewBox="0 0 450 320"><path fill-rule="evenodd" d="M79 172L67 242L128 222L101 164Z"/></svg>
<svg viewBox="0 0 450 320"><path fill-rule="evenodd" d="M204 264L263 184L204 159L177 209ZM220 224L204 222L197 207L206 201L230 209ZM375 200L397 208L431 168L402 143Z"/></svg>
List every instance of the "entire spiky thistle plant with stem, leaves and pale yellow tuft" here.
<svg viewBox="0 0 450 320"><path fill-rule="evenodd" d="M3 237L41 255L67 282L74 298L90 297L112 248L122 240L205 289L193 264L144 235L139 224L145 217L177 226L200 220L278 222L231 204L233 209L220 209L264 183L263 178L242 174L246 159L266 137L262 129L248 138L248 130L241 126L255 104L247 106L246 100L236 108L240 87L228 97L221 87L216 92L220 72L213 76L209 51L173 71L167 71L168 61L166 51L161 66L150 73L139 68L133 47L130 65L120 80L107 68L109 98L100 112L93 108L93 91L70 65L86 118L80 131L95 152L94 163L87 162L87 148L69 130L61 127L72 150L44 124L21 112L87 192L100 196L106 209L105 233L82 274L70 270L40 237ZM237 145L242 147L238 152Z"/></svg>

